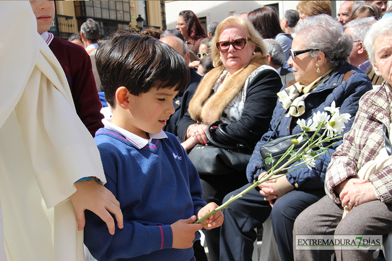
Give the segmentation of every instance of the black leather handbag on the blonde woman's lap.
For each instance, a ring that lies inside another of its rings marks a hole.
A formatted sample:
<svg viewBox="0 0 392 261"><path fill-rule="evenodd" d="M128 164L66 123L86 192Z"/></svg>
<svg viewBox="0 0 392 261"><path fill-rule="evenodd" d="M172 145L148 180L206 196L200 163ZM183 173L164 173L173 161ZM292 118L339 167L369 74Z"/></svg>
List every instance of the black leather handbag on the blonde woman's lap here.
<svg viewBox="0 0 392 261"><path fill-rule="evenodd" d="M246 142L228 135L224 130L225 125L227 124L219 121L210 124L206 131L207 145L196 144L188 154L199 175L224 175L232 172L245 172L251 149L249 149ZM218 126L217 131L233 145L221 144L215 141L211 136L212 126Z"/></svg>

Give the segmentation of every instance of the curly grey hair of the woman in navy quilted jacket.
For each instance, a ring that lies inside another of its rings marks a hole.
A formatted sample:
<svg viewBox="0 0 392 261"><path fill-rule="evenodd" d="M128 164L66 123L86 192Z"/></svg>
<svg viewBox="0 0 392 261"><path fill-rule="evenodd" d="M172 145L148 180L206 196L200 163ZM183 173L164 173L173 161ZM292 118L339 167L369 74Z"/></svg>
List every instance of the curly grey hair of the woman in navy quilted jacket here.
<svg viewBox="0 0 392 261"><path fill-rule="evenodd" d="M342 65L352 50L352 37L343 32L343 25L326 14L307 17L294 27L295 37L303 39L304 48L322 51L331 67ZM318 51L311 51L317 57Z"/></svg>

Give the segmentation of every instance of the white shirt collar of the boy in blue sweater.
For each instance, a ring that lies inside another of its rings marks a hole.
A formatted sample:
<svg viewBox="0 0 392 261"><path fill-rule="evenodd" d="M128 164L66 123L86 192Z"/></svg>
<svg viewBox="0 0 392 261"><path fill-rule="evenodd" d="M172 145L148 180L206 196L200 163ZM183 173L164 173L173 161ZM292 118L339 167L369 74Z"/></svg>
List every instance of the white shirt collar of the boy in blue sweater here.
<svg viewBox="0 0 392 261"><path fill-rule="evenodd" d="M111 121L112 121L112 119L102 119L102 123L105 126L105 128L123 135L128 142L131 142L132 144L134 144L138 148L143 148L147 144L151 143L152 139L158 140L158 139L167 139L168 138L166 133L163 130L161 130L161 132L157 133L157 134L148 133L148 136L150 138L149 138L149 140L147 140L147 139L144 139L140 136L137 136L136 134L133 134L133 133L117 126L117 125L114 125Z"/></svg>

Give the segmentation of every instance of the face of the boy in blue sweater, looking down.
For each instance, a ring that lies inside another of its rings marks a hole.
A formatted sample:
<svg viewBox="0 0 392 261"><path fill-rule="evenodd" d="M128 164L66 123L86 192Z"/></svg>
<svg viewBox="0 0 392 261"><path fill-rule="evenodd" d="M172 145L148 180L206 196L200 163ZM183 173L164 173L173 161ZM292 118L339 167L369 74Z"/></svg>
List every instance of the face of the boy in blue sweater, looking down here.
<svg viewBox="0 0 392 261"><path fill-rule="evenodd" d="M127 131L143 138L148 138L146 133L159 133L174 113L173 99L177 93L174 88L157 90L153 87L139 96L128 94L132 120L126 127Z"/></svg>

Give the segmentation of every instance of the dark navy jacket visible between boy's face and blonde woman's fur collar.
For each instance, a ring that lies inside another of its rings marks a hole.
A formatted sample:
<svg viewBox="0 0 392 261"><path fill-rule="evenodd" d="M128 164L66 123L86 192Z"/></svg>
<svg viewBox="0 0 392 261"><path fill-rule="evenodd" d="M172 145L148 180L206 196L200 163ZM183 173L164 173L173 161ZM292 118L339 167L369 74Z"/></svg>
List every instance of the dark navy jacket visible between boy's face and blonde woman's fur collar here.
<svg viewBox="0 0 392 261"><path fill-rule="evenodd" d="M175 109L174 114L166 121L166 126L163 127L164 131L170 132L177 136L177 125L178 121L184 116L188 111L188 104L192 96L195 94L197 85L201 80L201 75L197 74L195 70L189 68L191 71L191 82L188 88L183 93L178 93L178 95L173 99L173 106ZM181 141L182 142L182 141Z"/></svg>

